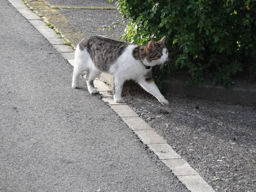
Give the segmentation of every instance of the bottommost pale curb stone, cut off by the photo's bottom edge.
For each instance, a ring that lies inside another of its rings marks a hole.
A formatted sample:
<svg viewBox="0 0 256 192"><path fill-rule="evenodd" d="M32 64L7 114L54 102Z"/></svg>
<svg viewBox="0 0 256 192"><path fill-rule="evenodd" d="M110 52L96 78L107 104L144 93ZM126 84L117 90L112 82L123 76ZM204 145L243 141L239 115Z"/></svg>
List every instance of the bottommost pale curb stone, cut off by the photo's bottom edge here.
<svg viewBox="0 0 256 192"><path fill-rule="evenodd" d="M177 176L191 192L215 192L200 175Z"/></svg>

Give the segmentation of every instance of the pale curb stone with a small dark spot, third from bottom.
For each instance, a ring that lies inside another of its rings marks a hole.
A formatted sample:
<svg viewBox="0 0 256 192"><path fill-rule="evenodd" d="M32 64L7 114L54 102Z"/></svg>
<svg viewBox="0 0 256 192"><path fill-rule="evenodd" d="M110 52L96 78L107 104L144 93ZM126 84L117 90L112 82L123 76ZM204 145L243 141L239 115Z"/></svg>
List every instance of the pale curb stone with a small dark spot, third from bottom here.
<svg viewBox="0 0 256 192"><path fill-rule="evenodd" d="M167 143L164 144L148 144L148 148L154 151L158 156L158 159L180 159L180 155L177 154L173 148Z"/></svg>

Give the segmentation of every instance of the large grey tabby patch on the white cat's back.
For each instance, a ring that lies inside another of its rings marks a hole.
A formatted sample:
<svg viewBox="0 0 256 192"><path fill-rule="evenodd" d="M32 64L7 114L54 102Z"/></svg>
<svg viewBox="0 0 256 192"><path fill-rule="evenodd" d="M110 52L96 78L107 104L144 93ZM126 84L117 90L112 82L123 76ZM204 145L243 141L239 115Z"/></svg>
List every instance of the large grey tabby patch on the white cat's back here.
<svg viewBox="0 0 256 192"><path fill-rule="evenodd" d="M79 43L80 51L87 51L99 70L108 71L112 64L125 52L128 43L103 36L91 36Z"/></svg>

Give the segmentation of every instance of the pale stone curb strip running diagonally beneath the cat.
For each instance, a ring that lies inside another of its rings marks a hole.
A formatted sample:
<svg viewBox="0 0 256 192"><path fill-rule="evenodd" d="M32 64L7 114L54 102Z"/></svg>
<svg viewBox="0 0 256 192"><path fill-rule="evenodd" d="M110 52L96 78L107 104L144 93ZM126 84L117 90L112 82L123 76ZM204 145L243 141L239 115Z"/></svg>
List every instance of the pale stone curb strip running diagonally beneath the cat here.
<svg viewBox="0 0 256 192"><path fill-rule="evenodd" d="M44 27L44 22L40 17L34 17L33 12L28 11L27 7L23 4L21 0L9 0L9 2L30 22L36 29L50 42L53 41L55 32L48 31L47 27ZM26 11L24 11L26 10ZM36 20L36 21L35 21ZM41 23L40 23L41 21ZM41 27L38 27L41 26ZM50 28L49 28L50 29ZM47 32L47 33L46 33ZM54 35L52 35L54 34ZM63 42L58 44L58 40L55 40L52 46L60 53L70 53L70 47L63 45ZM73 50L72 50L73 54ZM64 57L65 58L65 57ZM67 59L67 58L66 58ZM73 59L67 60L71 65L73 64ZM145 121L140 119L137 113L135 113L128 105L125 103L117 104L111 98L112 95L109 93L111 89L99 79L94 81L95 87L99 90L102 96L102 100L110 106L120 118L128 125L131 130L140 138L140 140L148 145L148 148L154 151L163 163L165 163L174 175L179 178L179 180L191 191L191 192L214 192L211 186L205 182L205 180L198 175L194 169L192 169L189 164L183 160L179 154L177 154L170 145L168 145L162 137L160 137Z"/></svg>

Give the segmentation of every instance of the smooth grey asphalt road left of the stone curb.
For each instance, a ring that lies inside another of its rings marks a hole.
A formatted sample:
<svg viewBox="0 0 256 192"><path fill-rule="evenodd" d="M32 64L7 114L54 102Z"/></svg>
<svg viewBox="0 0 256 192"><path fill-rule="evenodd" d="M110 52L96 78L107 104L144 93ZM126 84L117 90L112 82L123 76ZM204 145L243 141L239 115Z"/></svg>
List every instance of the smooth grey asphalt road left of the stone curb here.
<svg viewBox="0 0 256 192"><path fill-rule="evenodd" d="M188 191L7 0L0 18L1 192Z"/></svg>

